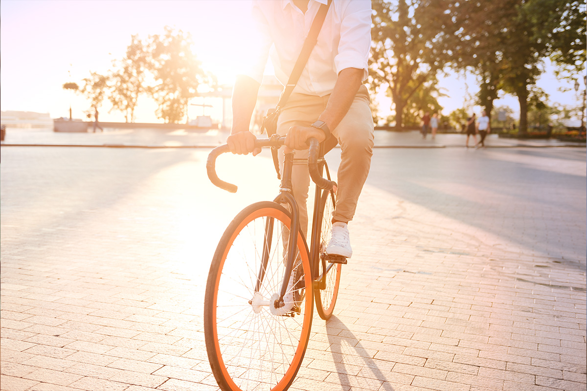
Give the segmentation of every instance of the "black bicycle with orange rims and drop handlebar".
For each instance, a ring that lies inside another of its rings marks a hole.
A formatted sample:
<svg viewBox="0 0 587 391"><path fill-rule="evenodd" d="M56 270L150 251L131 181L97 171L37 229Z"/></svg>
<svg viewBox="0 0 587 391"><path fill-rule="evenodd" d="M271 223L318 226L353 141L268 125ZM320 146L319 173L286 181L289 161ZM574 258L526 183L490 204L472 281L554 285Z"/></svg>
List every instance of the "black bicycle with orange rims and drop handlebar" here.
<svg viewBox="0 0 587 391"><path fill-rule="evenodd" d="M284 140L274 135L258 139L256 147L279 148ZM291 192L292 166L299 160L288 153L279 195L238 213L212 259L204 335L212 373L223 391L287 390L302 365L314 301L322 319L332 316L346 263L344 257L325 253L336 182L330 180L324 155L336 142L319 144L311 138L309 144L307 164L316 183L310 247ZM208 156L208 177L214 185L236 192L237 186L221 181L215 172L215 160L224 152L228 145Z"/></svg>

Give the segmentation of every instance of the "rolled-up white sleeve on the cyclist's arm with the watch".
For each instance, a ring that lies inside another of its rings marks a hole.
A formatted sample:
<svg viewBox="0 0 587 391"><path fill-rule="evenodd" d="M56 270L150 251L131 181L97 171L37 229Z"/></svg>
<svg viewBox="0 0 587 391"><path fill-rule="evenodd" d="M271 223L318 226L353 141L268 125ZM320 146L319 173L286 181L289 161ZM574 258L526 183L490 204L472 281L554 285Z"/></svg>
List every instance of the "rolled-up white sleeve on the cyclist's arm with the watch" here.
<svg viewBox="0 0 587 391"><path fill-rule="evenodd" d="M371 14L370 0L348 0L343 5L338 54L334 59L337 74L346 68L363 69L363 80L367 79Z"/></svg>

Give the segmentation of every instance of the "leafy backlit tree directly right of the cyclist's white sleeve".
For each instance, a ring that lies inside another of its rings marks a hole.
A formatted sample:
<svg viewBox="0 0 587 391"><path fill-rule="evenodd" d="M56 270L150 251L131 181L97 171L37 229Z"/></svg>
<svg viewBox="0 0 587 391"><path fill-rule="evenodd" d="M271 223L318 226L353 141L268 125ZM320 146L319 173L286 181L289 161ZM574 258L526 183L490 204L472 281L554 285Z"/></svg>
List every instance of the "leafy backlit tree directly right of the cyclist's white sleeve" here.
<svg viewBox="0 0 587 391"><path fill-rule="evenodd" d="M404 125L410 97L436 80L446 62L451 34L448 0L373 0L369 84L392 97L396 127Z"/></svg>

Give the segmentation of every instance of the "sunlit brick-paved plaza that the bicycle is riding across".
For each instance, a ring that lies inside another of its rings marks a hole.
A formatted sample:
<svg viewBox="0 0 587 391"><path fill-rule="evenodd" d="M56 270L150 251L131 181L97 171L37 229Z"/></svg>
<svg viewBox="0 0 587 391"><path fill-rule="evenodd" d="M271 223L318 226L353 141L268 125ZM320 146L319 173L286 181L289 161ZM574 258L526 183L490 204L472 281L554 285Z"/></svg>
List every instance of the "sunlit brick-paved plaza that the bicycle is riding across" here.
<svg viewBox="0 0 587 391"><path fill-rule="evenodd" d="M0 389L216 390L207 268L269 155L232 195L207 149L1 152ZM376 149L291 389L585 390L586 205L585 148Z"/></svg>

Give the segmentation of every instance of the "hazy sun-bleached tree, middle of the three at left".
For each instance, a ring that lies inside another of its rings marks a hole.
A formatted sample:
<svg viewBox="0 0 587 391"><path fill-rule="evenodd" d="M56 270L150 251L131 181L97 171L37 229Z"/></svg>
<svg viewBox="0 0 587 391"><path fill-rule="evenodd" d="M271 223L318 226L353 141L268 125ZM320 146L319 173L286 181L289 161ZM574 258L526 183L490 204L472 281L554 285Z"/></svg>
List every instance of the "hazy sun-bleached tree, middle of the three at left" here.
<svg viewBox="0 0 587 391"><path fill-rule="evenodd" d="M149 89L146 85L149 53L138 35L131 36L130 45L126 49L126 56L116 63L117 70L110 76L112 89L108 99L114 110L124 113L126 122L134 121L134 110L137 107L139 96Z"/></svg>

